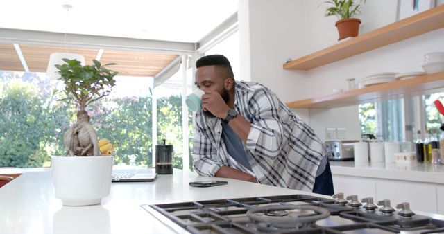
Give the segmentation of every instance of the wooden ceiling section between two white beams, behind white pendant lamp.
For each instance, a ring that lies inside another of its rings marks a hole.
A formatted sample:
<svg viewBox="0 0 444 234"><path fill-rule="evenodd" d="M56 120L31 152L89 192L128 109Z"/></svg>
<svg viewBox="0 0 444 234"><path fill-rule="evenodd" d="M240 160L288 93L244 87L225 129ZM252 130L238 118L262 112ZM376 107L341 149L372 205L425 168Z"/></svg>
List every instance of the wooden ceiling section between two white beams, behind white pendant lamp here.
<svg viewBox="0 0 444 234"><path fill-rule="evenodd" d="M76 53L85 57L86 64L92 64L92 60L96 58L99 49L88 48L65 48L56 46L35 46L21 44L23 57L28 64L29 71L46 72L48 67L49 56L51 53Z"/></svg>

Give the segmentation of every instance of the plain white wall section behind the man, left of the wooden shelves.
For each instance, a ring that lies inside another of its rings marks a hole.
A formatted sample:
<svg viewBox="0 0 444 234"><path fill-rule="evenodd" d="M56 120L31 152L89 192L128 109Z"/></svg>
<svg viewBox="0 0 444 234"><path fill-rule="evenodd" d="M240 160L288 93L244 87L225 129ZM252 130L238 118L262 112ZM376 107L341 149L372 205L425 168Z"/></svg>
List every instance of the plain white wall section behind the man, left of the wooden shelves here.
<svg viewBox="0 0 444 234"><path fill-rule="evenodd" d="M305 72L282 69L287 59L305 53L302 47L295 46L304 41L302 2L239 1L241 75L250 75L250 80L266 85L284 102L307 96Z"/></svg>

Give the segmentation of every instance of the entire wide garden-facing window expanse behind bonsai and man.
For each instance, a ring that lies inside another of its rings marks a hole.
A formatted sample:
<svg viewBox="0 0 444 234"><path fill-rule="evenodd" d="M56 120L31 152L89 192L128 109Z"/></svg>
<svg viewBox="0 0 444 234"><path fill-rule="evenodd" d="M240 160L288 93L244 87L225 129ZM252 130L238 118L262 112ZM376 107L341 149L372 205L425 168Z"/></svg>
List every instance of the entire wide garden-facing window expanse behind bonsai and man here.
<svg viewBox="0 0 444 234"><path fill-rule="evenodd" d="M200 53L227 56L241 80L235 30ZM155 145L165 139L174 148L173 167L192 170L194 113L184 107L183 97L194 86L194 64L189 62L195 60L180 58L186 61L162 84L154 78L117 76L110 96L87 107L99 139L117 145L115 165L152 166ZM0 71L0 167L49 166L51 156L66 154L63 134L76 120L76 107L58 101L65 97L55 92L61 86L46 73Z"/></svg>

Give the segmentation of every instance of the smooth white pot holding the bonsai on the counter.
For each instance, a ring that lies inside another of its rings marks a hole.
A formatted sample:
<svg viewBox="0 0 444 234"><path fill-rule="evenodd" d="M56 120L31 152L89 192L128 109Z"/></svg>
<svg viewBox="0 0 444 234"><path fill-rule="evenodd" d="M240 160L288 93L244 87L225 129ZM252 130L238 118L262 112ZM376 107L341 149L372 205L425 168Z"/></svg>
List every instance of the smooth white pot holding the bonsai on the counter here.
<svg viewBox="0 0 444 234"><path fill-rule="evenodd" d="M52 156L56 198L64 206L101 204L110 194L113 156Z"/></svg>

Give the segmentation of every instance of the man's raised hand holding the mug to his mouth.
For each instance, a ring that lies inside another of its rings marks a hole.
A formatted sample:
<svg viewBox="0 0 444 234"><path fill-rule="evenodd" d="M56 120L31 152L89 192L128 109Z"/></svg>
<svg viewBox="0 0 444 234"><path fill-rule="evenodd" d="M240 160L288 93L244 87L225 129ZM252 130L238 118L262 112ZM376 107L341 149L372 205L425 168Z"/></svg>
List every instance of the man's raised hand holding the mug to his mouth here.
<svg viewBox="0 0 444 234"><path fill-rule="evenodd" d="M228 105L223 100L221 94L216 91L207 91L202 96L202 109L210 111L214 116L224 119L227 117Z"/></svg>

